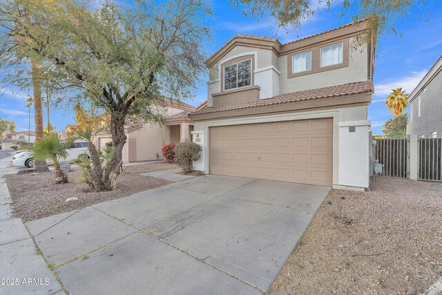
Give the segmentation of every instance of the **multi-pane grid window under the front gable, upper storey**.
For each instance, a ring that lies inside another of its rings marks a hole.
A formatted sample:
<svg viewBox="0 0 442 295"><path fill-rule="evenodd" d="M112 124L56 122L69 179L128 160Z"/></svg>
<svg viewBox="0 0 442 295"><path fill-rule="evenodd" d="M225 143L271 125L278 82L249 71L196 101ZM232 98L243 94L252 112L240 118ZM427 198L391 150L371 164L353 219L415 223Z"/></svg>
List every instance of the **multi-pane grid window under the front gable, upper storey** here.
<svg viewBox="0 0 442 295"><path fill-rule="evenodd" d="M224 68L224 90L251 85L251 59Z"/></svg>

